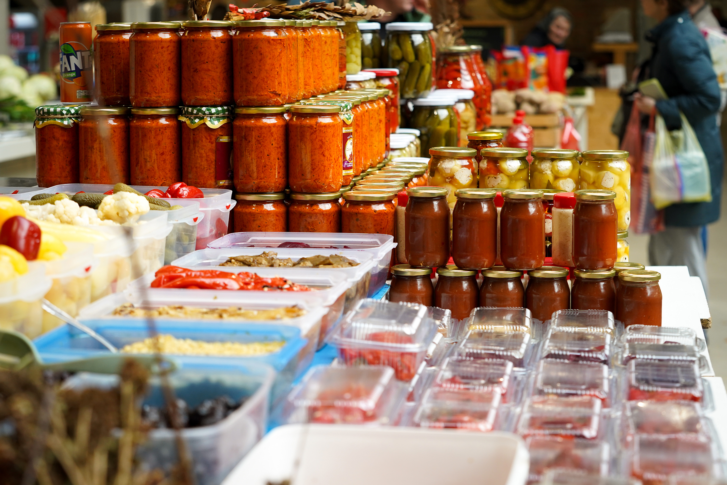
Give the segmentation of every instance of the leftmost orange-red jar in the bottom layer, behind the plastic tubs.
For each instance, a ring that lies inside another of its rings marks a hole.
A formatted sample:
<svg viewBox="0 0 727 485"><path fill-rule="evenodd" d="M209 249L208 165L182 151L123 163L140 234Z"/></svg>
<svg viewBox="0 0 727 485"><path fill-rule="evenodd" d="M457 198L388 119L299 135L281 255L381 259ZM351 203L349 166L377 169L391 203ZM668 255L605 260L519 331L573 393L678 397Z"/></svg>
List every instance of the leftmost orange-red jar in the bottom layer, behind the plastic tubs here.
<svg viewBox="0 0 727 485"><path fill-rule="evenodd" d="M232 209L235 232L284 233L288 231L288 206L285 194L236 193Z"/></svg>

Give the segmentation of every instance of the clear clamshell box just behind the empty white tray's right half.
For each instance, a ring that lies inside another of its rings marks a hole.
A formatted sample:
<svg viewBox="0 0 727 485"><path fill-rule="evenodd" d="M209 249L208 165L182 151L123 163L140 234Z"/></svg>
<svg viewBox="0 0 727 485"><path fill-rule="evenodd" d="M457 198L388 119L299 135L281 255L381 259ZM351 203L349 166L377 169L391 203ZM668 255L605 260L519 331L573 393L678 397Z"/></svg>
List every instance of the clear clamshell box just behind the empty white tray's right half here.
<svg viewBox="0 0 727 485"><path fill-rule="evenodd" d="M414 424L422 428L491 431L501 397L499 390L431 388L414 415Z"/></svg>

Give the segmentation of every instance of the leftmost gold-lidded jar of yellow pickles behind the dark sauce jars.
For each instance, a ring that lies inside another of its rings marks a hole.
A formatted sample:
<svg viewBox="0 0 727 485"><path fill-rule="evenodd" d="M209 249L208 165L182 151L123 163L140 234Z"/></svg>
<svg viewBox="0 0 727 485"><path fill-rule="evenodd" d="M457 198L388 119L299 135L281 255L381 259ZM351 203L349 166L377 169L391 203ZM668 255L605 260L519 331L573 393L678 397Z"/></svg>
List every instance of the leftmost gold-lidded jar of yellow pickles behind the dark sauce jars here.
<svg viewBox="0 0 727 485"><path fill-rule="evenodd" d="M429 149L429 185L447 189L447 205L454 209L459 188L477 188L477 161L473 148L440 146Z"/></svg>

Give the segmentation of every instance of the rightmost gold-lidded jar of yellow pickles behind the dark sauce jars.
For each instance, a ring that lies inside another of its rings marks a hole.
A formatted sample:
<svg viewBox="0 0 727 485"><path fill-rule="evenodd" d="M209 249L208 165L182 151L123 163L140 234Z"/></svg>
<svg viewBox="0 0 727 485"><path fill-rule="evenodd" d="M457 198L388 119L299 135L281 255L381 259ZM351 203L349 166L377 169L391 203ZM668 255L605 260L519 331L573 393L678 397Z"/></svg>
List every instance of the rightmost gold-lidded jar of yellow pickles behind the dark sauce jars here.
<svg viewBox="0 0 727 485"><path fill-rule="evenodd" d="M623 150L590 150L581 153L579 188L616 192L619 231L627 231L631 222L631 166L629 153Z"/></svg>

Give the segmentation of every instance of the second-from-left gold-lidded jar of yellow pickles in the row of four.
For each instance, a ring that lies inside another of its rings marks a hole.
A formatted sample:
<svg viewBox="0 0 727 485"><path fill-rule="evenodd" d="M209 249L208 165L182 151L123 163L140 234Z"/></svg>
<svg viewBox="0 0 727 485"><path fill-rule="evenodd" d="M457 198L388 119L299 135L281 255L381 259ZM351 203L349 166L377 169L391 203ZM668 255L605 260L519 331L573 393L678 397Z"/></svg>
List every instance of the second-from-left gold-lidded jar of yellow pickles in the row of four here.
<svg viewBox="0 0 727 485"><path fill-rule="evenodd" d="M523 148L483 148L480 188L528 188L528 151Z"/></svg>

